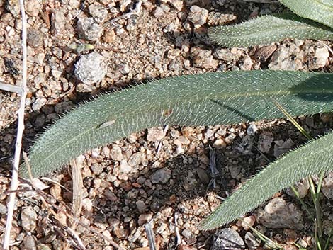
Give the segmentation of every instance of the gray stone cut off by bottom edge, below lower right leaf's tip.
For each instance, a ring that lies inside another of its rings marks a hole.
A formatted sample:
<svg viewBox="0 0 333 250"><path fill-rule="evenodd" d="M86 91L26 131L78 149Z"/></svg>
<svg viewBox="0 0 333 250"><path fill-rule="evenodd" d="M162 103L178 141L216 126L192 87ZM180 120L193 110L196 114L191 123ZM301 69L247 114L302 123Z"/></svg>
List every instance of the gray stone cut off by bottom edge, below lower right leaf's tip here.
<svg viewBox="0 0 333 250"><path fill-rule="evenodd" d="M213 244L210 250L239 250L244 249L242 237L231 228L220 229L213 235Z"/></svg>

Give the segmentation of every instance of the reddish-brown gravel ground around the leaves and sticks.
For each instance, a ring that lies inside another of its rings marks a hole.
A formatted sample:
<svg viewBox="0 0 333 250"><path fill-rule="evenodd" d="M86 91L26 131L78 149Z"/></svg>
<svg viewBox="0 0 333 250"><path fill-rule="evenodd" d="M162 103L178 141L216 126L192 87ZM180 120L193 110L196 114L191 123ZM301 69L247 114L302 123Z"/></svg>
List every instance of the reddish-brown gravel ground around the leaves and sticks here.
<svg viewBox="0 0 333 250"><path fill-rule="evenodd" d="M0 0L0 81L21 81L21 16L18 1ZM139 9L140 12L135 12ZM283 11L278 4L228 0L26 1L28 13L28 98L24 148L43 128L77 103L149 79L202 72L297 69L332 72L333 57L321 41L286 40L266 47L221 48L207 37L211 25L241 22ZM132 12L131 12L132 11ZM124 13L129 18L108 22ZM107 23L108 22L108 23ZM332 47L332 43L325 42ZM93 48L94 45L94 48ZM96 70L101 69L101 70ZM19 96L0 92L0 190L9 187ZM311 135L332 128L332 115L300 117ZM163 127L130 135L78 157L84 198L75 232L86 249L113 249L104 236L126 249L149 249L150 221L159 249L260 249L249 227L235 222L217 232L200 232L203 220L235 188L268 161L305 142L286 120L213 127ZM210 149L219 171L209 186ZM72 203L68 169L47 180L48 200L63 212ZM333 223L333 176L324 180L324 232ZM308 186L298 190L308 198ZM6 194L0 193L0 238L6 222ZM79 249L69 230L59 227L33 191L18 194L11 249ZM175 227L175 217L176 225ZM244 217L281 243L313 248L314 226L290 191ZM84 226L85 225L85 226ZM89 229L90 228L90 229ZM176 230L177 228L177 230ZM93 231L91 231L91 229ZM177 231L179 236L177 237ZM213 237L212 237L213 236ZM230 243L231 242L231 243ZM232 243L233 242L233 243Z"/></svg>

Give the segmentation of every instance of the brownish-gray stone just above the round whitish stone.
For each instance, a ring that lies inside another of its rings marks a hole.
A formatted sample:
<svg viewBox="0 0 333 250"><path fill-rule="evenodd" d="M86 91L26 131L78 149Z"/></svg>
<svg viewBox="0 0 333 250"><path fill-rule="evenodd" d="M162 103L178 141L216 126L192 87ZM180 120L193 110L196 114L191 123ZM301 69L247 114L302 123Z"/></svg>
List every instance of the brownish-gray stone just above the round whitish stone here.
<svg viewBox="0 0 333 250"><path fill-rule="evenodd" d="M80 18L77 21L77 32L81 38L98 41L101 38L103 27L96 23L94 18Z"/></svg>

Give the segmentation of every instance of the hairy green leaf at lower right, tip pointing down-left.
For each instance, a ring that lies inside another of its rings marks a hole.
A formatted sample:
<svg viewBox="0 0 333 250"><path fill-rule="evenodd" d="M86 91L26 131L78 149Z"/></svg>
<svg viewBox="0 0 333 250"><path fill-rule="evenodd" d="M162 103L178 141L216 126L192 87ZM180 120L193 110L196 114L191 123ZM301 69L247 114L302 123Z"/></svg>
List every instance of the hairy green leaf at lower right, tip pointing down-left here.
<svg viewBox="0 0 333 250"><path fill-rule="evenodd" d="M330 132L269 164L209 215L201 223L201 229L232 222L302 178L333 170L332 142L333 132Z"/></svg>

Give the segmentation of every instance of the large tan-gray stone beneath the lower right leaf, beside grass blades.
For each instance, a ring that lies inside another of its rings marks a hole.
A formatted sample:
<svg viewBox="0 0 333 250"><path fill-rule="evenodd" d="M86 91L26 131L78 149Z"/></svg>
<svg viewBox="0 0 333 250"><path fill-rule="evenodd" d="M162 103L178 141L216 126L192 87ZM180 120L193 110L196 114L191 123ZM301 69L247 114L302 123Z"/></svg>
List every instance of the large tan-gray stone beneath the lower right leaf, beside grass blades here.
<svg viewBox="0 0 333 250"><path fill-rule="evenodd" d="M303 213L293 203L287 203L282 198L274 198L259 208L256 220L269 228L303 228Z"/></svg>

